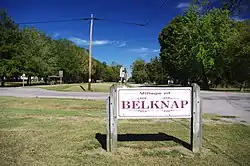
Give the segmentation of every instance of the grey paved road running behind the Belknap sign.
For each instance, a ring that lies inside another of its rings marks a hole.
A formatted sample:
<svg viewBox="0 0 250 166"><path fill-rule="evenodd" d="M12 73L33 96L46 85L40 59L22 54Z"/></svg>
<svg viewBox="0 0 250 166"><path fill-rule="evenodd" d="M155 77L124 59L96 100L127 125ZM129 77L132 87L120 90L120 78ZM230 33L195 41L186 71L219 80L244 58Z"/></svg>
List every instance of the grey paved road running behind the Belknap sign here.
<svg viewBox="0 0 250 166"><path fill-rule="evenodd" d="M0 88L0 96L101 99L108 93L101 92L58 92L40 88ZM239 117L237 121L250 123L250 93L202 91L202 111L225 116Z"/></svg>

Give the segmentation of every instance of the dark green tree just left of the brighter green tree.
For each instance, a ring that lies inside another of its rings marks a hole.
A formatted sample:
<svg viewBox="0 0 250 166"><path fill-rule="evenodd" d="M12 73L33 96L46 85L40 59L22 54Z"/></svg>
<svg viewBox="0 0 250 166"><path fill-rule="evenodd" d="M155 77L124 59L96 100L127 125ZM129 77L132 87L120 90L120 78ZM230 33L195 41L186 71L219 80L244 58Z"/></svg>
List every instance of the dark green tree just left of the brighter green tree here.
<svg viewBox="0 0 250 166"><path fill-rule="evenodd" d="M162 67L174 80L184 84L197 74L197 61L192 46L198 37L199 15L189 11L187 16L177 16L159 34Z"/></svg>

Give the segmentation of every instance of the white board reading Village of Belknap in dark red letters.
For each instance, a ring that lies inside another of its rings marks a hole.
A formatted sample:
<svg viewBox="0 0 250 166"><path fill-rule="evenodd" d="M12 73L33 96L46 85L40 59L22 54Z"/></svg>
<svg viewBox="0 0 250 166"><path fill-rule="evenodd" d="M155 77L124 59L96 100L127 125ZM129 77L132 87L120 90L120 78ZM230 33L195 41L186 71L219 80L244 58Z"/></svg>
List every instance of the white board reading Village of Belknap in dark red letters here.
<svg viewBox="0 0 250 166"><path fill-rule="evenodd" d="M190 118L191 95L191 87L118 88L117 118Z"/></svg>

